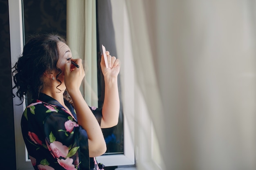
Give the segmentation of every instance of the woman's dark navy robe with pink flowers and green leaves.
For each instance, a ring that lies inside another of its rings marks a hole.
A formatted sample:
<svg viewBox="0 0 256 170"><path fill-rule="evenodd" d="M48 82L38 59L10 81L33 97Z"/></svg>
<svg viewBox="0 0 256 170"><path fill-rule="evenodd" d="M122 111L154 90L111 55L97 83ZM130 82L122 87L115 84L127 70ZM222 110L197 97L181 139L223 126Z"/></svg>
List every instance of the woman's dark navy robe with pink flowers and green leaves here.
<svg viewBox="0 0 256 170"><path fill-rule="evenodd" d="M88 135L79 126L74 108L69 113L58 101L40 93L24 110L22 136L35 170L99 170L89 158ZM90 107L99 124L101 109ZM99 166L98 166L99 165Z"/></svg>

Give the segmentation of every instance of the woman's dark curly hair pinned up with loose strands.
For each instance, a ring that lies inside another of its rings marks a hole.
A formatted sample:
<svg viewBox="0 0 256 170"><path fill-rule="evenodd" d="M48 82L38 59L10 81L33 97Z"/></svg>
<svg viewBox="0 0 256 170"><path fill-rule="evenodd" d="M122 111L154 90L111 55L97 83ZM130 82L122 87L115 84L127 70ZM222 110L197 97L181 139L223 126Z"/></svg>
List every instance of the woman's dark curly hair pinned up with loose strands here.
<svg viewBox="0 0 256 170"><path fill-rule="evenodd" d="M23 53L13 66L12 71L13 82L15 83L13 89L18 89L16 95L21 102L24 101L25 96L38 97L40 90L44 87L42 75L45 71L54 69L59 71L56 79L61 85L58 76L62 71L56 67L59 58L58 42L65 43L65 39L56 34L42 34L31 36L25 44Z"/></svg>

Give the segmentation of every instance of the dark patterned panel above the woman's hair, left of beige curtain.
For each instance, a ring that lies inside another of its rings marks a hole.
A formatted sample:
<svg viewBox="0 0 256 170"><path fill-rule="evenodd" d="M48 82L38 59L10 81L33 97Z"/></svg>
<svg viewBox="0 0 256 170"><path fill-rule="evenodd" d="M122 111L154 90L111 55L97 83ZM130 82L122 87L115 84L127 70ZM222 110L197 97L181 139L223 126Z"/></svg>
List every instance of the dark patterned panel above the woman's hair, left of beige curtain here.
<svg viewBox="0 0 256 170"><path fill-rule="evenodd" d="M23 0L25 42L35 33L58 33L66 37L66 0Z"/></svg>

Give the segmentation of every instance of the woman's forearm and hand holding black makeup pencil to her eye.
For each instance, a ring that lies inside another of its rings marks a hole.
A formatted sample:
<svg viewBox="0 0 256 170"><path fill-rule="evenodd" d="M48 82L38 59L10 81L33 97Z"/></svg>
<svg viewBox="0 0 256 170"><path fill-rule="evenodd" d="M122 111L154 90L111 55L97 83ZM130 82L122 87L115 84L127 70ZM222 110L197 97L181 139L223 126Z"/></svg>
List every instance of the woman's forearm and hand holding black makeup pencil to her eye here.
<svg viewBox="0 0 256 170"><path fill-rule="evenodd" d="M72 98L74 109L76 110L77 122L79 126L87 132L89 156L97 157L106 152L106 142L101 127L99 126L99 122L93 115L79 90L83 77L85 76L82 60L71 60L78 64L79 68L74 67L74 70L71 71L73 64L71 64L71 61L68 61L65 64L64 82L66 89Z"/></svg>

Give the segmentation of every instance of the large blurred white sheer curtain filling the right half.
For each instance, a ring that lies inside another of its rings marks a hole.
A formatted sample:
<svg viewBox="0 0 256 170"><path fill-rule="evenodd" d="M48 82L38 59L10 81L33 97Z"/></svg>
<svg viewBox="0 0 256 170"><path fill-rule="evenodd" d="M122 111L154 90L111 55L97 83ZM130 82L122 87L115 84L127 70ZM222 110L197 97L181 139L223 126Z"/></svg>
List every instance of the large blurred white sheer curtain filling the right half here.
<svg viewBox="0 0 256 170"><path fill-rule="evenodd" d="M162 168L255 170L255 1L126 5L135 74ZM137 158L148 152L135 151Z"/></svg>

